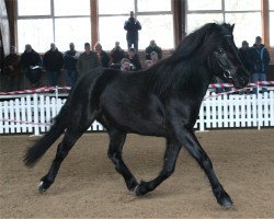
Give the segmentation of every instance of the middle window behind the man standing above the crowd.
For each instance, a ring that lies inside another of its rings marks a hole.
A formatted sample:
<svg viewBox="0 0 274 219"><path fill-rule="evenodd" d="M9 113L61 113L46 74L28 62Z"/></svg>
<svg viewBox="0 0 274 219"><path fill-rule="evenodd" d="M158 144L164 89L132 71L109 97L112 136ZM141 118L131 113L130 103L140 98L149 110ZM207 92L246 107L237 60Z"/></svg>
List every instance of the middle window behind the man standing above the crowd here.
<svg viewBox="0 0 274 219"><path fill-rule="evenodd" d="M98 3L99 41L105 50L111 50L116 41L127 49L124 23L130 11L142 26L139 49L145 49L151 39L163 49L174 47L171 0L100 0Z"/></svg>

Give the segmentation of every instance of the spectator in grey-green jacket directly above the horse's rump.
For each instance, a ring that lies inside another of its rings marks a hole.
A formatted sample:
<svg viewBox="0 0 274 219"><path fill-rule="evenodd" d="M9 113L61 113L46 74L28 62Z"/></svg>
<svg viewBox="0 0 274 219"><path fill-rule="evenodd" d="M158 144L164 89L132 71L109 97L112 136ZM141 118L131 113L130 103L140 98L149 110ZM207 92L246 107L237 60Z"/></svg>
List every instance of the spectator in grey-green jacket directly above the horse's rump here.
<svg viewBox="0 0 274 219"><path fill-rule="evenodd" d="M77 61L77 70L79 76L82 76L84 72L101 66L98 55L91 50L90 44L84 44L84 53L79 56Z"/></svg>

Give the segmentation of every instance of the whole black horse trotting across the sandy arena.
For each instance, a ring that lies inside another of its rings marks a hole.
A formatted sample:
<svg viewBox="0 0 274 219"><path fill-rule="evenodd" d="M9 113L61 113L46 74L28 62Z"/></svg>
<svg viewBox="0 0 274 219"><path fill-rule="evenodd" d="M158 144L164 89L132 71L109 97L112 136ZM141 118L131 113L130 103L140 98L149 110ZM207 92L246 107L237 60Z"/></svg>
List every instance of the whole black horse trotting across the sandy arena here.
<svg viewBox="0 0 274 219"><path fill-rule="evenodd" d="M233 25L209 23L186 36L169 58L148 70L96 68L80 78L50 130L25 154L25 164L33 166L65 132L49 172L41 180L39 192L46 192L54 183L69 150L96 119L110 135L110 159L137 196L153 191L173 173L184 146L204 169L217 201L230 207L232 201L193 127L214 76L236 88L248 84L249 76L238 57L232 31ZM138 183L124 163L122 150L128 132L167 139L163 168L152 181Z"/></svg>

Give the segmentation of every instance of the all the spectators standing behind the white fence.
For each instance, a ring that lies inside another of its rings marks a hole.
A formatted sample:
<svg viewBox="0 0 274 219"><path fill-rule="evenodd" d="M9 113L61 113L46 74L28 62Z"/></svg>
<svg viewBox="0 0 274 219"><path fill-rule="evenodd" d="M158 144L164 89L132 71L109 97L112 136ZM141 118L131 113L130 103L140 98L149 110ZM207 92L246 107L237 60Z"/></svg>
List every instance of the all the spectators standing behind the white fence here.
<svg viewBox="0 0 274 219"><path fill-rule="evenodd" d="M73 43L69 44L69 50L65 54L61 54L52 43L50 49L45 53L43 58L30 44L25 45L25 50L21 56L16 54L15 47L12 46L11 54L4 58L3 64L9 78L9 90L20 90L22 72L28 79L32 88L38 87L43 69L47 72L49 87L57 85L61 69L66 73L67 87L73 87L79 76L99 66L122 71L141 70L142 66L138 56L138 32L141 30L141 24L136 20L133 11L130 11L129 19L124 23L124 30L127 32L127 53L121 48L119 42L115 42L115 46L110 54L103 50L100 43L96 43L93 49L89 43L85 43L84 51L81 54L76 50ZM248 42L243 41L242 47L239 49L239 57L250 72L252 82L266 80L270 54L262 44L260 36L255 38L252 47L249 47ZM146 48L144 67L149 68L161 58L162 49L153 39L150 41ZM217 78L217 82L222 81ZM265 92L266 88L263 88L262 91ZM217 92L222 92L222 89L217 90ZM256 93L256 88L253 89L253 92Z"/></svg>

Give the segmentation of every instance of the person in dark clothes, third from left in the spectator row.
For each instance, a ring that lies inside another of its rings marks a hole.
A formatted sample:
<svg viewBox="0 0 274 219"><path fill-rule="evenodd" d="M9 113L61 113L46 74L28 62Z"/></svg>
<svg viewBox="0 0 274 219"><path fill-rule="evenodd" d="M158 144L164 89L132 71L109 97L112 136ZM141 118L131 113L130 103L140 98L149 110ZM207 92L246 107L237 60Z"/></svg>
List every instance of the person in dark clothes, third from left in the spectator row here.
<svg viewBox="0 0 274 219"><path fill-rule="evenodd" d="M62 67L64 58L62 54L56 48L54 43L50 44L50 49L45 53L43 64L47 71L48 85L56 87L57 77Z"/></svg>

